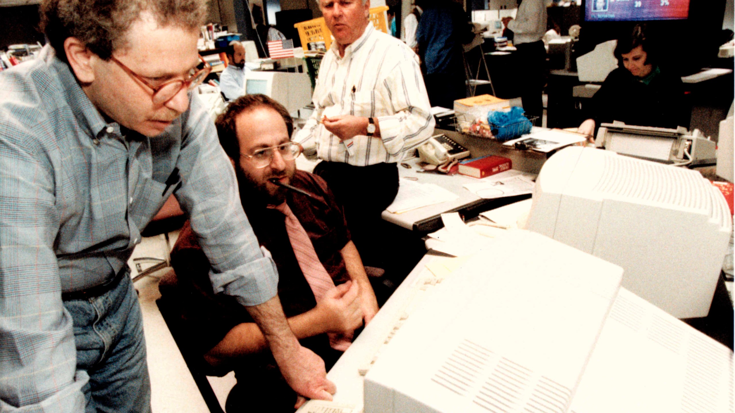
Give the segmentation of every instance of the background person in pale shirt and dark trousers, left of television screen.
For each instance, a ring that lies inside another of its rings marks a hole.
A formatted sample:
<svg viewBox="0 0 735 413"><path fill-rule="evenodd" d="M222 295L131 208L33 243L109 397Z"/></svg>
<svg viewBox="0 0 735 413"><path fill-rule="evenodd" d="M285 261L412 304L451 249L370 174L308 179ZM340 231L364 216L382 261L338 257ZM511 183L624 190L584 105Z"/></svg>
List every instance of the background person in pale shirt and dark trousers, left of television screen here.
<svg viewBox="0 0 735 413"><path fill-rule="evenodd" d="M513 44L518 49L519 70L517 85L526 115L543 115L542 90L546 49L541 40L546 33L546 2L523 0L518 5L515 19L507 23L512 30Z"/></svg>

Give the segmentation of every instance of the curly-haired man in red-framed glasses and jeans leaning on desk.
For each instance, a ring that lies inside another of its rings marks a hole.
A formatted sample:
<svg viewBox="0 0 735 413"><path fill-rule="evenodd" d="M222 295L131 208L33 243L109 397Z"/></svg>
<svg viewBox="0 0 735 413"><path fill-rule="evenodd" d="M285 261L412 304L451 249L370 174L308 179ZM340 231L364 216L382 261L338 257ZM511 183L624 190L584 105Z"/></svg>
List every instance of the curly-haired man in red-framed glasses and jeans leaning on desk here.
<svg viewBox="0 0 735 413"><path fill-rule="evenodd" d="M297 392L331 398L276 295L214 125L190 93L201 0L45 0L50 46L0 73L0 411L150 412L126 262L170 195Z"/></svg>

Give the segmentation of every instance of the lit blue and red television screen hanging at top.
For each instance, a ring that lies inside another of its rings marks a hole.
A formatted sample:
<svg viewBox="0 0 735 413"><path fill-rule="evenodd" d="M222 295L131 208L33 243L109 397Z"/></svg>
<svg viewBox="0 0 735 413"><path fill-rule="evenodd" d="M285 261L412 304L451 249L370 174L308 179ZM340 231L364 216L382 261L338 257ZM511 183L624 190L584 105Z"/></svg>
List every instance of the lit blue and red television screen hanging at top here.
<svg viewBox="0 0 735 413"><path fill-rule="evenodd" d="M684 20L689 0L584 0L584 21Z"/></svg>

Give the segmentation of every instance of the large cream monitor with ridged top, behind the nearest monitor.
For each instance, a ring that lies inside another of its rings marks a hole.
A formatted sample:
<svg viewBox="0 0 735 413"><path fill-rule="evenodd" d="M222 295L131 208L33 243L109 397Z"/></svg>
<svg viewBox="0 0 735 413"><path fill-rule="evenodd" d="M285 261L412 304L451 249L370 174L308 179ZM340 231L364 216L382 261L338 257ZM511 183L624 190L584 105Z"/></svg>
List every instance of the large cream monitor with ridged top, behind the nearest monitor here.
<svg viewBox="0 0 735 413"><path fill-rule="evenodd" d="M581 147L545 162L526 226L620 265L623 287L678 318L709 313L731 228L698 171Z"/></svg>

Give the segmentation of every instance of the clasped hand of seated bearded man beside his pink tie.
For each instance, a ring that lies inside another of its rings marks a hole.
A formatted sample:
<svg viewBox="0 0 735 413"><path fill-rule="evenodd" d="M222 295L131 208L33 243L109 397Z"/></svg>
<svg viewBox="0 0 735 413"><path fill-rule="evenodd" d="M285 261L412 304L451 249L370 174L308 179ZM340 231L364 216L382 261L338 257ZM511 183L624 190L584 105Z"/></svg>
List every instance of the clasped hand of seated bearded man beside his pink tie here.
<svg viewBox="0 0 735 413"><path fill-rule="evenodd" d="M358 292L357 283L347 281L326 292L317 303L326 332L348 334L362 324Z"/></svg>

